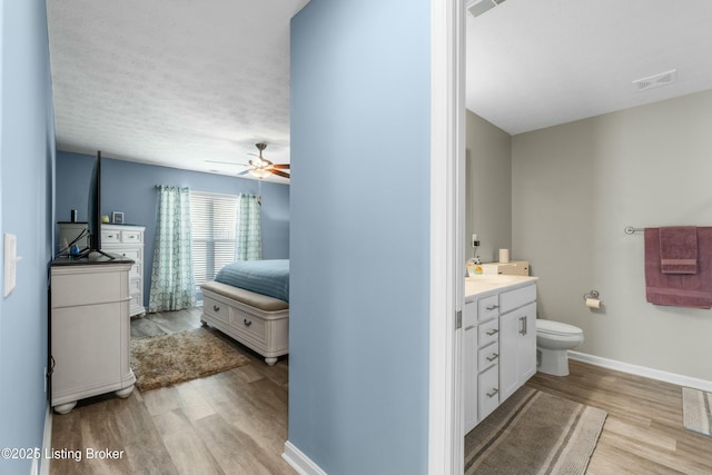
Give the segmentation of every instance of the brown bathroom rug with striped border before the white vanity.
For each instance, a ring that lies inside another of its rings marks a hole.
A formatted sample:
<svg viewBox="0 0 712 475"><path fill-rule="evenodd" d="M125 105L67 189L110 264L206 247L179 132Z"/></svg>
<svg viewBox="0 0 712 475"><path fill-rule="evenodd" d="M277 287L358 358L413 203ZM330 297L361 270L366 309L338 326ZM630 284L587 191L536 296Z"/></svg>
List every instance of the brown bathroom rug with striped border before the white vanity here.
<svg viewBox="0 0 712 475"><path fill-rule="evenodd" d="M465 474L583 475L606 415L524 386L465 436Z"/></svg>

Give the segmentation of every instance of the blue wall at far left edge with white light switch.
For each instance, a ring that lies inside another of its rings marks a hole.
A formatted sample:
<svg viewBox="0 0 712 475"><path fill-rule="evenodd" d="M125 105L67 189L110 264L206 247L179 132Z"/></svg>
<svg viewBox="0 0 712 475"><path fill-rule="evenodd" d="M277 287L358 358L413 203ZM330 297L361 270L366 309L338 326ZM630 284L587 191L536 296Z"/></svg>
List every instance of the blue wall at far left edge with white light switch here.
<svg viewBox="0 0 712 475"><path fill-rule="evenodd" d="M44 0L2 0L0 21L0 221L22 256L0 300L0 447L41 447L55 162ZM0 474L30 466L0 457Z"/></svg>

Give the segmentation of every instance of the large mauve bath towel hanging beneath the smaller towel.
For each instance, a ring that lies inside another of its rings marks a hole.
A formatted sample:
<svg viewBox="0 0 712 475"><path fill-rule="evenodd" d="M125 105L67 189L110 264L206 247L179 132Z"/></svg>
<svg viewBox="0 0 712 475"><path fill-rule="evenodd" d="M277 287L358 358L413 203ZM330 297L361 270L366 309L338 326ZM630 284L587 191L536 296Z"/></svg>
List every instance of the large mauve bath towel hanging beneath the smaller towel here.
<svg viewBox="0 0 712 475"><path fill-rule="evenodd" d="M654 305L712 308L712 228L698 228L698 273L663 274L660 232L645 228L645 297Z"/></svg>

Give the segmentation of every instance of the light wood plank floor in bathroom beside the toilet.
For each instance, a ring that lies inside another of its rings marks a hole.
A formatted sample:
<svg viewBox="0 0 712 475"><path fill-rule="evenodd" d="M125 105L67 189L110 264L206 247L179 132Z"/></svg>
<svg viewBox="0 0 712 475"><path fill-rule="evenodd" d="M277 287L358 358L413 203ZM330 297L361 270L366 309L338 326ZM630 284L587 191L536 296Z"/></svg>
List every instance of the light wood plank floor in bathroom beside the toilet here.
<svg viewBox="0 0 712 475"><path fill-rule="evenodd" d="M712 437L682 425L682 389L570 360L571 375L537 373L527 385L609 413L590 475L712 474Z"/></svg>

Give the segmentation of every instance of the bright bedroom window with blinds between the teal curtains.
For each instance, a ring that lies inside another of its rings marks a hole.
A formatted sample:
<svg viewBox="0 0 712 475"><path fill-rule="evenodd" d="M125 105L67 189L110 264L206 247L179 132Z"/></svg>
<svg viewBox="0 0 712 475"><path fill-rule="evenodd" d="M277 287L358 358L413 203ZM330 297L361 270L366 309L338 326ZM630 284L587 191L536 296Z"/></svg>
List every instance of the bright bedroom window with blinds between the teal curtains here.
<svg viewBox="0 0 712 475"><path fill-rule="evenodd" d="M192 273L196 286L235 260L237 195L190 191Z"/></svg>

